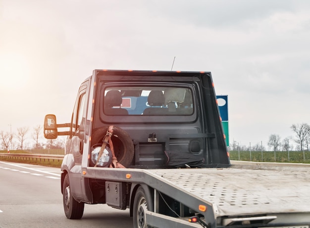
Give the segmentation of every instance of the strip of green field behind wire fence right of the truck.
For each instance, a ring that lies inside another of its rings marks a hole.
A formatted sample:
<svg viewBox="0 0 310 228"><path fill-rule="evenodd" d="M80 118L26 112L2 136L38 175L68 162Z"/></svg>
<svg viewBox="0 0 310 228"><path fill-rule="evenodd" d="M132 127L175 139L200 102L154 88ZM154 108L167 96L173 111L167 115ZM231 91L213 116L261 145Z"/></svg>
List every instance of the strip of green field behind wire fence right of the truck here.
<svg viewBox="0 0 310 228"><path fill-rule="evenodd" d="M240 159L238 151L230 151L231 160L242 160L242 161L265 161L265 162L292 162L292 163L310 163L310 152L300 152L300 151L291 151L283 152L277 151L263 151L261 152L249 152L249 151L240 151ZM305 154L305 159L304 159ZM261 158L262 156L262 158Z"/></svg>

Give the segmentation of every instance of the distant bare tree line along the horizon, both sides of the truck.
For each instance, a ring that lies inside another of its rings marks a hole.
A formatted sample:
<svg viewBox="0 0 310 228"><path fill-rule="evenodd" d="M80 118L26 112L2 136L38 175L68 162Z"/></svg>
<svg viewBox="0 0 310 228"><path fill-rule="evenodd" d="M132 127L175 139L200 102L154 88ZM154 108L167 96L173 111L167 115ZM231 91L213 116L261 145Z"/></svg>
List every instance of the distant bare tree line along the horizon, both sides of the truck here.
<svg viewBox="0 0 310 228"><path fill-rule="evenodd" d="M291 127L294 137L285 138L277 134L271 134L267 142L267 146L272 151L293 151L293 142L297 144L296 151L309 151L310 145L310 125L306 123L293 124ZM65 138L58 137L55 140L47 140L43 137L43 128L37 125L31 131L29 127L17 128L17 133L0 131L0 150L26 150L26 149L63 149L65 146ZM230 151L266 151L262 142L247 146L240 145L237 141L233 141L229 147Z"/></svg>

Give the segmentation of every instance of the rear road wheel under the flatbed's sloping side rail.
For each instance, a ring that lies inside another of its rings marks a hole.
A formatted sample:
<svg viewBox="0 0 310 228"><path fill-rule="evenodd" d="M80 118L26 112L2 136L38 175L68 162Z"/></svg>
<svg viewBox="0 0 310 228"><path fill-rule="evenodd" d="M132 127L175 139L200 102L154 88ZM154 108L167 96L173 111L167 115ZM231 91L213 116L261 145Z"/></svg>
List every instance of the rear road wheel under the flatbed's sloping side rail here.
<svg viewBox="0 0 310 228"><path fill-rule="evenodd" d="M143 187L137 189L133 204L134 228L151 228L147 225L145 210L154 211L153 200L150 193L146 193Z"/></svg>

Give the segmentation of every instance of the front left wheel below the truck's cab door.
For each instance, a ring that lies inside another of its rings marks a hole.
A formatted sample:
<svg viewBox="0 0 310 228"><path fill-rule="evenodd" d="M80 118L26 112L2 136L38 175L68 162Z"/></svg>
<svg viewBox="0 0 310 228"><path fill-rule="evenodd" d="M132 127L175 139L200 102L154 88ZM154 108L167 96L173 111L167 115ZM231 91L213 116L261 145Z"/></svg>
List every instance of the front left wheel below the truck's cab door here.
<svg viewBox="0 0 310 228"><path fill-rule="evenodd" d="M84 213L84 203L77 202L70 191L69 175L66 174L63 180L62 200L64 214L68 219L81 219Z"/></svg>

